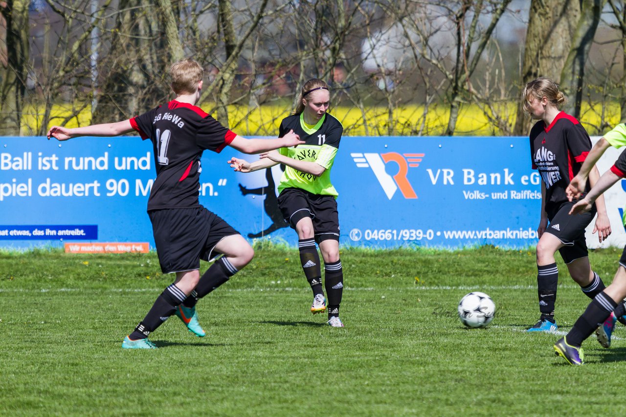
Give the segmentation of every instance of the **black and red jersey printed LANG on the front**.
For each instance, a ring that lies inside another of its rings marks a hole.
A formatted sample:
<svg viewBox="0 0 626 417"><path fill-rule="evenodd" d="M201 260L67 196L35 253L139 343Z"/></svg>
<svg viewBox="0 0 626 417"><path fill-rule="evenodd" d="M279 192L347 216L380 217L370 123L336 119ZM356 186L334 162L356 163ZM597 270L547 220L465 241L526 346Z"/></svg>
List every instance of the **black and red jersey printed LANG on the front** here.
<svg viewBox="0 0 626 417"><path fill-rule="evenodd" d="M551 213L568 201L565 189L580 170L591 150L591 139L585 128L565 112L545 126L543 120L530 131L530 153L533 169L541 174L546 187L545 211ZM589 191L589 184L585 192Z"/></svg>

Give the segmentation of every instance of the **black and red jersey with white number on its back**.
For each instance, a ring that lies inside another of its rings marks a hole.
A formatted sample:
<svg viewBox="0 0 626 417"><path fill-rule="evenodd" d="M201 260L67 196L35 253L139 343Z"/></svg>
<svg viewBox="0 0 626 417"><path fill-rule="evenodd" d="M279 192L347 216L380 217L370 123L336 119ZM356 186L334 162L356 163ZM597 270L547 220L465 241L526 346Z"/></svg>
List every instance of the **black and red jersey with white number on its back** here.
<svg viewBox="0 0 626 417"><path fill-rule="evenodd" d="M130 124L142 139L152 141L156 179L148 211L199 207L202 152L220 153L235 133L199 107L175 100L130 119Z"/></svg>

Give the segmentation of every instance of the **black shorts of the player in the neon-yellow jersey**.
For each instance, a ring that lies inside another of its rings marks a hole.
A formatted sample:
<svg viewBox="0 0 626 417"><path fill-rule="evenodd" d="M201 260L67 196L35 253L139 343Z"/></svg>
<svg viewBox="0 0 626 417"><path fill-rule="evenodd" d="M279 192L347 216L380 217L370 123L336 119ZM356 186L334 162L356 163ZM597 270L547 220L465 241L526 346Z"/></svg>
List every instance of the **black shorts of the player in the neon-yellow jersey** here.
<svg viewBox="0 0 626 417"><path fill-rule="evenodd" d="M339 213L334 196L312 194L299 188L285 188L278 196L278 206L293 229L301 219L310 217L317 243L327 239L339 241Z"/></svg>

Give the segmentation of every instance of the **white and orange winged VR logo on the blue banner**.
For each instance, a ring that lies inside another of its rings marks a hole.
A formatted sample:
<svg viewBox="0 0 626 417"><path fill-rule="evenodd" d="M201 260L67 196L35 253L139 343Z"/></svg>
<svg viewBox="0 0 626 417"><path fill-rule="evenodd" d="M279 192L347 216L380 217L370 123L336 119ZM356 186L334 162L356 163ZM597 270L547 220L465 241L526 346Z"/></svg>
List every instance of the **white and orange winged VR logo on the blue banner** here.
<svg viewBox="0 0 626 417"><path fill-rule="evenodd" d="M388 199L391 200L398 188L404 198L418 198L409 180L406 179L406 174L409 168L419 166L424 157L423 153L351 153L350 156L354 159L357 168L371 168L374 171L374 175L376 175L376 179L381 184ZM399 170L394 176L387 174L385 171L385 164L389 162L398 164Z"/></svg>

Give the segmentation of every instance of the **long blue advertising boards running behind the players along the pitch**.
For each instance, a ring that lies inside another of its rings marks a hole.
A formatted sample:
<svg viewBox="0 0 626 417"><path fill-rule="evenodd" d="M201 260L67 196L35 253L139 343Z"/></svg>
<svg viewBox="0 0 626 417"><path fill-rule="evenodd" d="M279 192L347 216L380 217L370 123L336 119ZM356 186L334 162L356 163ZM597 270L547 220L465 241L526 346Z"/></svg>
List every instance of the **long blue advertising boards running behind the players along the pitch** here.
<svg viewBox="0 0 626 417"><path fill-rule="evenodd" d="M206 151L200 203L251 241L296 246L277 206L280 166L235 173L232 156L258 158ZM0 246L69 239L152 246L146 203L154 163L151 144L137 137L0 138ZM525 137L345 137L331 178L344 246L536 244L540 176Z"/></svg>

